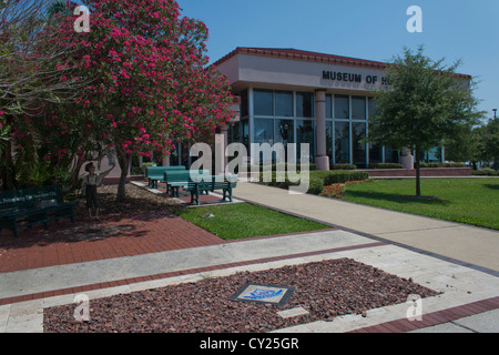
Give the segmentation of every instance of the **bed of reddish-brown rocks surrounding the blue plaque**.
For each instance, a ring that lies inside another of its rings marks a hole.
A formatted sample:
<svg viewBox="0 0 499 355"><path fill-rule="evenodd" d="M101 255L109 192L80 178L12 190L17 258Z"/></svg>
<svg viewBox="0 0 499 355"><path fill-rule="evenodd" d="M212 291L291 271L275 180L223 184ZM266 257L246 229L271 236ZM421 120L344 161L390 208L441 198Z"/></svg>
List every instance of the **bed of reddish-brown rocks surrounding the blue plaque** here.
<svg viewBox="0 0 499 355"><path fill-rule="evenodd" d="M228 300L246 283L295 287L284 306ZM77 304L44 310L45 333L264 333L407 302L439 293L350 258L205 277L131 294L90 300L90 321L74 320ZM291 318L277 312L303 307Z"/></svg>

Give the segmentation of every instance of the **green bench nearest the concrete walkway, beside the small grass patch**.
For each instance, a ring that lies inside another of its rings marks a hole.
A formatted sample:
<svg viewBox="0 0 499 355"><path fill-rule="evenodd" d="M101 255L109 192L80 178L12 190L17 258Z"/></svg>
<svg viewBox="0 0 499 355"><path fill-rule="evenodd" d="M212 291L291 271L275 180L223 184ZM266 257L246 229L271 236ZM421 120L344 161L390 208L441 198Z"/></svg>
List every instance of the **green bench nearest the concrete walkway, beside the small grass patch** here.
<svg viewBox="0 0 499 355"><path fill-rule="evenodd" d="M223 191L222 201L228 199L232 202L232 191L237 185L237 175L224 175L222 180L221 176L200 176L200 179L194 179L185 187L185 191L191 192L191 204L200 205L200 194L203 192L214 192L215 190Z"/></svg>

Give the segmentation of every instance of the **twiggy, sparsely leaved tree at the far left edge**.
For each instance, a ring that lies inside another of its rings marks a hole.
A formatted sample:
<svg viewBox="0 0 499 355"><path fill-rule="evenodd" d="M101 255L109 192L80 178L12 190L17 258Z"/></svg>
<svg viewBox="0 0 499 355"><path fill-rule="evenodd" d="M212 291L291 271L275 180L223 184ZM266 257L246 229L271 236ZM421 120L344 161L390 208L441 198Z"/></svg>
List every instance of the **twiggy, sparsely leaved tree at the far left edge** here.
<svg viewBox="0 0 499 355"><path fill-rule="evenodd" d="M48 28L52 1L0 1L0 176L4 190L29 184L47 105L71 104L91 77L79 77L73 49L62 45L60 24ZM65 41L75 41L74 31Z"/></svg>

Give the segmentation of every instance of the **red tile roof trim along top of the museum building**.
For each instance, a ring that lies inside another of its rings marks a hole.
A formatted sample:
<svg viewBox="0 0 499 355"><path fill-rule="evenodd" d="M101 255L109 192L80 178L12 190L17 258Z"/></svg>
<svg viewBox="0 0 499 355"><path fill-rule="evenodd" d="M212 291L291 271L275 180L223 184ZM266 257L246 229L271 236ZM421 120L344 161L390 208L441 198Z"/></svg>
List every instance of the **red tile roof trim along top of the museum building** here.
<svg viewBox="0 0 499 355"><path fill-rule="evenodd" d="M380 69L380 70L385 70L388 67L387 63L377 62L377 61L373 61L373 60L308 52L308 51L302 51L302 50L296 50L296 49L292 49L292 48L281 49L281 48L246 48L246 47L237 47L231 53L221 58L220 60L214 62L212 65L218 67L223 62L227 61L228 59L231 59L237 54L251 54L251 55L258 55L258 57L281 58L281 59L301 60L301 61L309 61L309 62L343 64L343 65L349 65L349 67L371 68L371 69ZM455 74L455 75L457 78L471 80L471 75L466 75L466 74Z"/></svg>

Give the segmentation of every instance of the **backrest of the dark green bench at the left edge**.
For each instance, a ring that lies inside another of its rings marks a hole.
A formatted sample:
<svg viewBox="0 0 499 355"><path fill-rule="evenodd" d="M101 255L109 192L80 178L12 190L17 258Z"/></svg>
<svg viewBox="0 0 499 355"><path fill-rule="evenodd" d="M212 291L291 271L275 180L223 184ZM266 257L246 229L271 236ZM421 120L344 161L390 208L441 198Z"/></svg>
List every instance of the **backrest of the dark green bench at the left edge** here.
<svg viewBox="0 0 499 355"><path fill-rule="evenodd" d="M59 185L4 191L0 193L0 211L31 209L43 201L62 202Z"/></svg>

